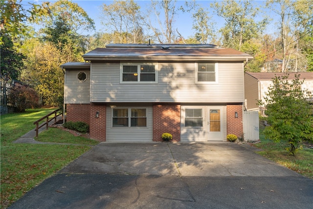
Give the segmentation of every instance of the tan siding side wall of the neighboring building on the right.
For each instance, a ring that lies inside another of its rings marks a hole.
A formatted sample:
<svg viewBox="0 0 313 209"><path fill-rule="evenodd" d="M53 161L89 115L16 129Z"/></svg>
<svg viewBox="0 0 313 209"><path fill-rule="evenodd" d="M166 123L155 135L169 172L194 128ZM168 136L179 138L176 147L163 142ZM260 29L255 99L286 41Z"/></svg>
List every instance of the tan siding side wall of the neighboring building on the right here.
<svg viewBox="0 0 313 209"><path fill-rule="evenodd" d="M247 110L259 108L257 105L259 100L259 82L247 73L245 73L245 99Z"/></svg>

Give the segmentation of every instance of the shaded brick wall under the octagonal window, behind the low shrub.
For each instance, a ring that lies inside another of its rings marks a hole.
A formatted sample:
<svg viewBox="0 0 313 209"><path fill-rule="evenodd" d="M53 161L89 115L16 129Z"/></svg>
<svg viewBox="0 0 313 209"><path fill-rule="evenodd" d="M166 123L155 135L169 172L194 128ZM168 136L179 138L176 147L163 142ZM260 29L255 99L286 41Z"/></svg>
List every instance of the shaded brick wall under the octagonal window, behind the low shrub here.
<svg viewBox="0 0 313 209"><path fill-rule="evenodd" d="M67 104L67 121L89 124L89 104Z"/></svg>

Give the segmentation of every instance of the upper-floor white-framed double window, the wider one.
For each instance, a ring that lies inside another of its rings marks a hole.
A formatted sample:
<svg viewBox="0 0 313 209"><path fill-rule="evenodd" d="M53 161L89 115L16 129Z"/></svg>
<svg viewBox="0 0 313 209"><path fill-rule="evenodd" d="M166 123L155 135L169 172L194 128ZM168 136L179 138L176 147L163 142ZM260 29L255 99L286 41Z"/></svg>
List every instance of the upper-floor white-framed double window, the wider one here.
<svg viewBox="0 0 313 209"><path fill-rule="evenodd" d="M121 83L157 83L157 64L121 64Z"/></svg>

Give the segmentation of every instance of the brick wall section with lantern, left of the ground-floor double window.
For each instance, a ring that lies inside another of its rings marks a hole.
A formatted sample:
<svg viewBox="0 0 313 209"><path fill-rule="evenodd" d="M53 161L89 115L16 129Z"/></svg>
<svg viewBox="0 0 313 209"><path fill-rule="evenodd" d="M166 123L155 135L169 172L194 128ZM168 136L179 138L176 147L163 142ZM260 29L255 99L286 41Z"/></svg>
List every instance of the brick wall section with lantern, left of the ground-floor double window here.
<svg viewBox="0 0 313 209"><path fill-rule="evenodd" d="M90 103L90 139L106 141L106 110L106 105ZM95 117L96 112L99 112L99 117Z"/></svg>

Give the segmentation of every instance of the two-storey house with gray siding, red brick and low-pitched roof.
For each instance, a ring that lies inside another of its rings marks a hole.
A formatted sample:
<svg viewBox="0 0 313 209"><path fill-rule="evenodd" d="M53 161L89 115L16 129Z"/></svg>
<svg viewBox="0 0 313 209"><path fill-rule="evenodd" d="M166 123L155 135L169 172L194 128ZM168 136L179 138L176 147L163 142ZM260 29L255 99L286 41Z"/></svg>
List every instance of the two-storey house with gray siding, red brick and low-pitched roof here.
<svg viewBox="0 0 313 209"><path fill-rule="evenodd" d="M91 139L114 142L226 141L243 134L244 62L252 56L214 45L96 48L66 63L67 121ZM235 117L236 113L236 117Z"/></svg>

